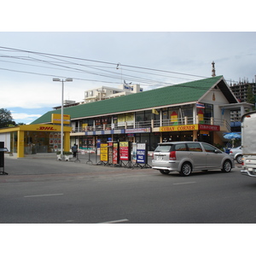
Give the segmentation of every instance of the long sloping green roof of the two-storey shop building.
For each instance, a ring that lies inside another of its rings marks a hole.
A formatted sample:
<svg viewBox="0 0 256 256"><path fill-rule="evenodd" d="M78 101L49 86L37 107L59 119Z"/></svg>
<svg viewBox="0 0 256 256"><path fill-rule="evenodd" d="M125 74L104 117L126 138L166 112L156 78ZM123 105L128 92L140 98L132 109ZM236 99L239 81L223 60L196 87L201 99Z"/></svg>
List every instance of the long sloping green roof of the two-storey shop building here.
<svg viewBox="0 0 256 256"><path fill-rule="evenodd" d="M119 96L99 102L85 103L64 108L64 114L70 114L71 119L79 119L110 113L131 112L132 110L145 108L161 108L162 106L185 102L196 102L221 79L223 77L218 76L147 90L128 96ZM52 113L61 113L61 109L44 113L40 118L33 121L32 125L50 123Z"/></svg>

